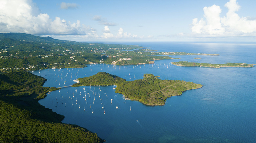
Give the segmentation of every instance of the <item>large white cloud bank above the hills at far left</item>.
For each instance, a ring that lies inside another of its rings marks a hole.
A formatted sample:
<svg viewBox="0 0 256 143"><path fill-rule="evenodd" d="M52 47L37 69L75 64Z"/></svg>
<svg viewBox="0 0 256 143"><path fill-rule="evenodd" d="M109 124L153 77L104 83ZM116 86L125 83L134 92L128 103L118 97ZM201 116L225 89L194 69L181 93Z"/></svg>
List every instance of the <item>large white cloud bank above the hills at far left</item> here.
<svg viewBox="0 0 256 143"><path fill-rule="evenodd" d="M10 10L11 9L11 10ZM22 32L34 35L85 35L88 28L80 24L66 22L56 17L50 19L47 13L40 13L32 0L0 1L0 32Z"/></svg>

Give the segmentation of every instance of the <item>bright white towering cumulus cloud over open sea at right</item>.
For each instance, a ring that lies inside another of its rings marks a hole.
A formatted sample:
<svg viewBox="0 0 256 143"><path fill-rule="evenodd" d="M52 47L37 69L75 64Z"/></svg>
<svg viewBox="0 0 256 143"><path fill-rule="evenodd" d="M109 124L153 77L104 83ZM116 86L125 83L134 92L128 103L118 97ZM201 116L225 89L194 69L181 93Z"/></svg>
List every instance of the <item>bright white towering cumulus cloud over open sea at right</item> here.
<svg viewBox="0 0 256 143"><path fill-rule="evenodd" d="M241 6L236 0L230 0L225 7L228 12L224 17L220 17L222 9L220 6L213 5L204 7L204 18L198 21L197 18L192 20L191 30L193 33L201 36L256 36L256 20L248 17L240 17L236 11Z"/></svg>

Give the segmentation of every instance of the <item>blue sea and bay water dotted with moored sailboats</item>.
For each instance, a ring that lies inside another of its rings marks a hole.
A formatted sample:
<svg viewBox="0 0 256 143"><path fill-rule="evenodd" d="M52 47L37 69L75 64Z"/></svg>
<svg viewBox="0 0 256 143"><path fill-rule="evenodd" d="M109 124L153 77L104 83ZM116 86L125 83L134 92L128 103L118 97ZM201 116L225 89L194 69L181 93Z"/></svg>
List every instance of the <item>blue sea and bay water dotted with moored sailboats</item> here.
<svg viewBox="0 0 256 143"><path fill-rule="evenodd" d="M62 88L51 92L39 103L64 115L63 123L84 127L97 133L109 143L256 142L255 67L214 69L179 67L170 64L175 61L256 64L255 43L126 42L123 44L150 46L163 52L207 53L220 54L220 56L172 56L181 59L157 60L155 64L150 65L113 67L113 65L96 64L79 69L49 69L41 70L40 73L33 72L48 79L44 84L45 87L72 85L75 83L73 81L75 78L91 76L99 71L117 75L127 81L142 79L143 74L152 73L160 76L160 79L185 80L203 85L203 88L188 90L181 96L168 98L163 106L147 106L138 101L124 100L121 94L114 92L114 86L107 85L87 86L84 87L85 90L83 87L76 87L77 91L74 87ZM195 57L202 59L194 59ZM79 95L80 91L81 95ZM113 99L112 104L111 99Z"/></svg>

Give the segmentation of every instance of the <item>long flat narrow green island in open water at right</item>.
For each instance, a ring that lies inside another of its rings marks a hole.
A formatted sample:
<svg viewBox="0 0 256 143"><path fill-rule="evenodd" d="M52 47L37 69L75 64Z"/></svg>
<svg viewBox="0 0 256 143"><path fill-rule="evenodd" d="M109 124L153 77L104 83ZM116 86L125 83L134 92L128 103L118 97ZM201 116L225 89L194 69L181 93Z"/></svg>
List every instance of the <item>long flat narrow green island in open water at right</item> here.
<svg viewBox="0 0 256 143"><path fill-rule="evenodd" d="M176 66L183 66L183 67L210 67L210 68L221 68L221 67L251 68L251 67L254 67L252 64L245 64L245 63L209 64L209 63L195 63L195 62L180 61L180 62L172 62L171 64L174 64Z"/></svg>

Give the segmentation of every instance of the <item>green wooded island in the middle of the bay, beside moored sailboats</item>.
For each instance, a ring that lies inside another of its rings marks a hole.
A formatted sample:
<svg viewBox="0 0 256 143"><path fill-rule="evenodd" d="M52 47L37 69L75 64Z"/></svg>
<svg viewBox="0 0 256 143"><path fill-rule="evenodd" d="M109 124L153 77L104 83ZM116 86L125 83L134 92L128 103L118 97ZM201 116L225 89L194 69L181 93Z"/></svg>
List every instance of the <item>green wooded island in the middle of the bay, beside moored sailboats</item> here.
<svg viewBox="0 0 256 143"><path fill-rule="evenodd" d="M153 74L144 74L144 79L128 82L118 76L98 72L89 77L79 78L80 82L72 87L117 85L115 92L123 94L127 100L138 100L146 105L164 105L168 97L181 95L186 90L203 86L180 80L161 80L158 77Z"/></svg>

